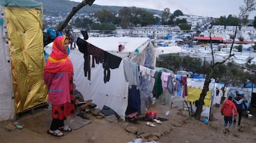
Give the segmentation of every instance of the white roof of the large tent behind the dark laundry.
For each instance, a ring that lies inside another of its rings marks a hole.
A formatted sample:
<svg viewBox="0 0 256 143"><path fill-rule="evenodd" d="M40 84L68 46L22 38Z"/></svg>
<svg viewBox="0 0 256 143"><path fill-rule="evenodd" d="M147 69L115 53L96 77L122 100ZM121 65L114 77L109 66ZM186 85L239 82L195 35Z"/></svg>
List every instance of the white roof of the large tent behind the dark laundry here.
<svg viewBox="0 0 256 143"><path fill-rule="evenodd" d="M152 62L155 63L155 48L150 41L150 38L137 37L90 37L87 42L93 44L103 51L121 57L124 60L135 62L138 65L144 65L145 54L152 55ZM119 44L124 46L124 49L119 52ZM155 65L153 66L155 67Z"/></svg>

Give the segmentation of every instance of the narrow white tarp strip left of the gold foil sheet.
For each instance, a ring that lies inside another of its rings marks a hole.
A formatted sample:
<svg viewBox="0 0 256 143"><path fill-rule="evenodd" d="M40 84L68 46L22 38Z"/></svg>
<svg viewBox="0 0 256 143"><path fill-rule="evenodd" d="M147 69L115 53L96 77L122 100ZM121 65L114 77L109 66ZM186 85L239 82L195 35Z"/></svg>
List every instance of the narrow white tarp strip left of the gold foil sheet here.
<svg viewBox="0 0 256 143"><path fill-rule="evenodd" d="M14 118L14 88L3 6L0 6L0 12L0 121L2 121Z"/></svg>

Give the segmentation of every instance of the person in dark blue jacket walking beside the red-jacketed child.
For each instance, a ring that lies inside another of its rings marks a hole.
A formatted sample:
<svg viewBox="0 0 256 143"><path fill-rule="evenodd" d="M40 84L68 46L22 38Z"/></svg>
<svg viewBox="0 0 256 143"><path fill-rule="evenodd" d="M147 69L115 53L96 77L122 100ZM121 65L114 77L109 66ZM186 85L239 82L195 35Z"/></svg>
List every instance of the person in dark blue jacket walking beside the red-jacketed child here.
<svg viewBox="0 0 256 143"><path fill-rule="evenodd" d="M236 92L236 97L234 97L233 100L234 104L236 105L237 112L238 112L238 128L241 128L241 118L242 118L242 111L243 111L243 105L245 110L247 110L247 105L245 104L244 98L242 97L239 92ZM236 119L233 120L233 125L236 125Z"/></svg>

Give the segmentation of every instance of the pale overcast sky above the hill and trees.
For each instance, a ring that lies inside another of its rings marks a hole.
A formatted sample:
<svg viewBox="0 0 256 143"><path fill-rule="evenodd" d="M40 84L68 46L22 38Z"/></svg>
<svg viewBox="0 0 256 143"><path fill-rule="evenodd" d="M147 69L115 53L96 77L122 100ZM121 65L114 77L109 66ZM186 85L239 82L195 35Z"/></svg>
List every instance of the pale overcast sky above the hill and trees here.
<svg viewBox="0 0 256 143"><path fill-rule="evenodd" d="M82 2L82 0L70 0ZM239 15L239 6L244 0L95 0L93 4L101 6L135 6L148 9L164 10L168 7L170 12L181 10L183 14L217 17L229 14ZM254 19L256 11L250 12L249 18Z"/></svg>

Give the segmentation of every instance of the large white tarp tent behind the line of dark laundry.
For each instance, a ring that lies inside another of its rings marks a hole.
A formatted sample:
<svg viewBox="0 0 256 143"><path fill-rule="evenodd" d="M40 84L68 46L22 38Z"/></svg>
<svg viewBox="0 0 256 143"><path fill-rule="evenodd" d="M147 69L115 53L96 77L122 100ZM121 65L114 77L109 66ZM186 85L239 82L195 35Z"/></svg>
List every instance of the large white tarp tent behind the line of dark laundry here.
<svg viewBox="0 0 256 143"><path fill-rule="evenodd" d="M87 42L138 65L144 65L147 57L151 55L150 64L155 67L155 49L149 38L90 37ZM121 52L118 51L119 44L125 47ZM45 47L48 54L51 53L51 45ZM100 109L106 105L121 118L124 118L128 103L129 83L124 78L123 60L119 68L110 69L110 80L105 83L103 80L104 69L101 63L95 64L94 68L91 67L91 80L88 80L83 71L83 54L78 49L74 49L74 51L70 51L69 57L74 66L74 83L83 94L84 99L92 99Z"/></svg>

